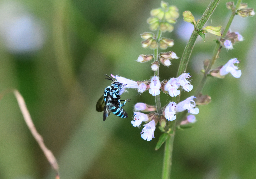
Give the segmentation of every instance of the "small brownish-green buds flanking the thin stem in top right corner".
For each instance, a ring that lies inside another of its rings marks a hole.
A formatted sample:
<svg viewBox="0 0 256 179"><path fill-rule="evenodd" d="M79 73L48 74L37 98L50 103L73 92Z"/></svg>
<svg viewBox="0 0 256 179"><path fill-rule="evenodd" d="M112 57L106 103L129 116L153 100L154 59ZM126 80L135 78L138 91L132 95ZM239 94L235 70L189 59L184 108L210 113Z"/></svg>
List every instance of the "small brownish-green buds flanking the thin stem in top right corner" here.
<svg viewBox="0 0 256 179"><path fill-rule="evenodd" d="M229 10L232 10L233 12L235 12L236 7L235 7L234 2L229 2L226 4L226 6ZM246 18L248 16L254 16L255 12L254 12L253 8L248 8L247 3L241 3L236 14L238 14L239 16L241 16L243 18Z"/></svg>

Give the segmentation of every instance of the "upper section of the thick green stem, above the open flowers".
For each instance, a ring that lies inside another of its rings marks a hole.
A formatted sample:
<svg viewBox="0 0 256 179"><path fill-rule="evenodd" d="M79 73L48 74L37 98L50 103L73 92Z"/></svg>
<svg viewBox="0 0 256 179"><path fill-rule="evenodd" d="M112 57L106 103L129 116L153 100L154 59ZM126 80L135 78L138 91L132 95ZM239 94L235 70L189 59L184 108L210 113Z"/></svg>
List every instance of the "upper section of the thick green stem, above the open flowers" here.
<svg viewBox="0 0 256 179"><path fill-rule="evenodd" d="M187 65L188 65L188 61L190 59L191 53L193 51L193 48L195 46L195 42L196 39L198 37L198 29L202 29L205 25L205 23L209 20L209 18L211 17L212 13L214 12L215 8L217 7L218 3L220 0L212 0L211 3L209 4L209 6L207 7L207 9L205 10L204 14L202 15L199 23L197 24L197 26L195 27L195 30L193 31L187 46L184 49L182 58L180 60L180 64L179 64L179 69L178 69L178 73L177 73L177 77L179 75L181 75L182 73L186 72L187 69Z"/></svg>

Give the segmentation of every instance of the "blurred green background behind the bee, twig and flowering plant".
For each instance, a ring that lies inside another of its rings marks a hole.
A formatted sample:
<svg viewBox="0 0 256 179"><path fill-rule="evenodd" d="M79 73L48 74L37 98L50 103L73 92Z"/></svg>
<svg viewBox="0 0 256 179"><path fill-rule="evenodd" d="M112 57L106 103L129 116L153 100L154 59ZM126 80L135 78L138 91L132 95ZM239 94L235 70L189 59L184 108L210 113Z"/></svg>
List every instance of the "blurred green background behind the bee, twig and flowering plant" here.
<svg viewBox="0 0 256 179"><path fill-rule="evenodd" d="M150 10L160 7L152 0L20 0L0 2L0 89L17 88L24 96L46 146L57 157L61 179L161 178L164 148L155 151L155 139L141 138L141 128L131 124L136 102L154 104L148 92L134 89L122 95L128 119L95 110L104 88L104 74L119 74L138 81L153 76L150 63L135 60L152 50L141 47L140 34L149 31ZM198 19L209 0L167 1L180 14L190 10ZM220 1L207 25L225 27L231 11ZM254 0L247 0L256 7ZM256 178L256 19L236 17L232 31L245 41L234 50L222 49L215 67L231 58L241 60L242 76L211 78L203 93L212 102L200 107L192 129L177 131L172 178ZM179 57L191 34L182 17L175 31L163 36L175 40ZM204 59L210 58L216 36L198 39L187 71L194 89L202 78ZM161 66L162 80L176 76L179 59ZM172 98L161 94L163 105ZM0 178L55 178L44 154L25 125L13 94L0 103Z"/></svg>

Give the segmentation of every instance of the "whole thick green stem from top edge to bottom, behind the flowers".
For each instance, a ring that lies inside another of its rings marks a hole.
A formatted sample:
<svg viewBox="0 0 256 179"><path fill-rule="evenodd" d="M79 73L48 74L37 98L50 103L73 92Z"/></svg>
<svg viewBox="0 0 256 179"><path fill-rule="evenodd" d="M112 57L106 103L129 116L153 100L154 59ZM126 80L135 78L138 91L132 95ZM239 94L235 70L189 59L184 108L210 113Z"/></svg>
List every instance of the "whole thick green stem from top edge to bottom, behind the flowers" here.
<svg viewBox="0 0 256 179"><path fill-rule="evenodd" d="M195 30L193 31L187 46L184 49L182 58L180 60L179 69L177 73L177 77L181 75L182 73L186 72L187 65L189 58L191 56L192 50L195 46L196 39L198 37L197 29L202 29L205 23L209 20L210 16L214 12L215 8L217 7L220 0L212 0L205 10L204 14L202 15L199 23L197 24ZM177 99L177 103L179 102L180 97L175 98ZM174 143L174 137L175 137L175 130L176 130L176 124L177 119L170 122L171 129L173 130L173 133L170 134L170 136L167 138L165 142L165 153L164 153L164 163L163 163L163 173L162 173L162 179L169 179L170 178L170 172L172 167L172 153L173 153L173 143Z"/></svg>

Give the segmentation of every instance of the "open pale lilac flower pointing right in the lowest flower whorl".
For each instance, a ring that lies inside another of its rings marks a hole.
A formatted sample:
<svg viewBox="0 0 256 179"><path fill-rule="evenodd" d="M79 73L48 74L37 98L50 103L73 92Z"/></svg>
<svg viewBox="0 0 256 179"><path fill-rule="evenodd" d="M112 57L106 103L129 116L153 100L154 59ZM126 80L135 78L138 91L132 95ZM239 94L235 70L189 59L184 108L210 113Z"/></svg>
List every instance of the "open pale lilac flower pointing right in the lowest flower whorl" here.
<svg viewBox="0 0 256 179"><path fill-rule="evenodd" d="M186 109L188 110L189 113L191 114L198 114L199 109L195 108L196 107L196 102L193 100L196 98L195 96L188 97L184 101L180 102L179 104L176 105L176 112L182 112L185 111Z"/></svg>

